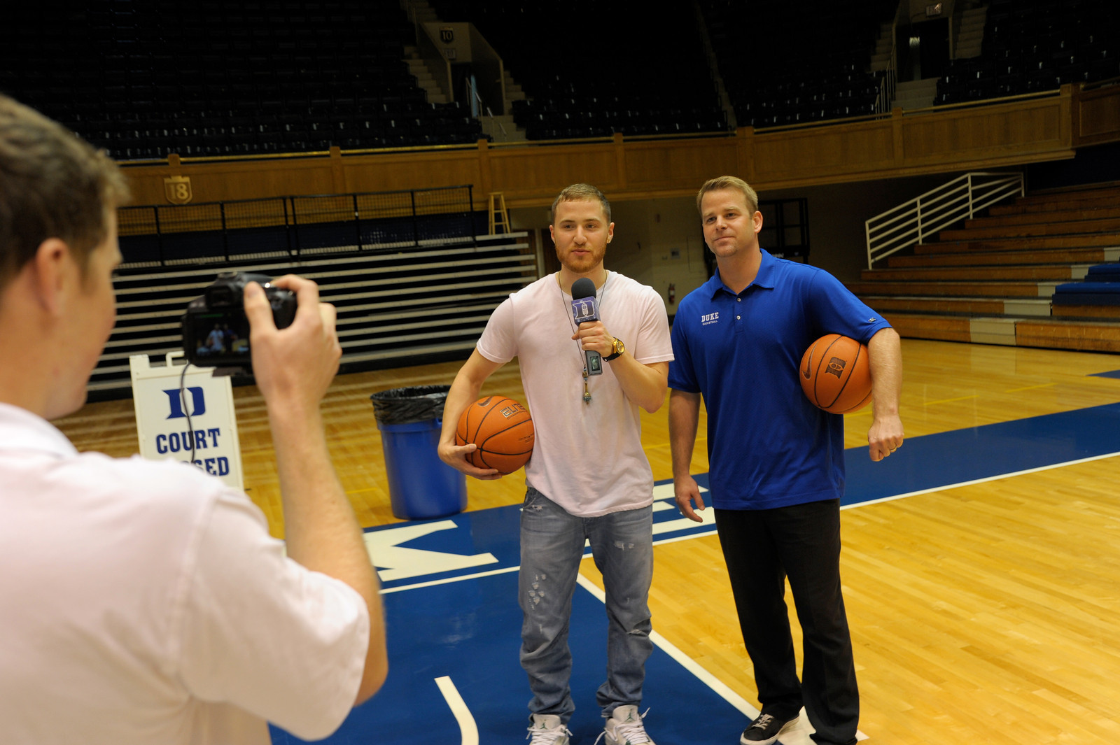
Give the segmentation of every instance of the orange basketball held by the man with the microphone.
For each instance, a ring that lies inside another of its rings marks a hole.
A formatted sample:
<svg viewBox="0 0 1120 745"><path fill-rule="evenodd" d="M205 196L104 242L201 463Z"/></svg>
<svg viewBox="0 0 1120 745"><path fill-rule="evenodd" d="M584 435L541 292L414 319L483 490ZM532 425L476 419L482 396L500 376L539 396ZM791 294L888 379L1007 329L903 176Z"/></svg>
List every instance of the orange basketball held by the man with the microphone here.
<svg viewBox="0 0 1120 745"><path fill-rule="evenodd" d="M455 444L473 442L470 464L513 473L533 454L533 419L529 409L505 396L487 396L467 406L455 431Z"/></svg>

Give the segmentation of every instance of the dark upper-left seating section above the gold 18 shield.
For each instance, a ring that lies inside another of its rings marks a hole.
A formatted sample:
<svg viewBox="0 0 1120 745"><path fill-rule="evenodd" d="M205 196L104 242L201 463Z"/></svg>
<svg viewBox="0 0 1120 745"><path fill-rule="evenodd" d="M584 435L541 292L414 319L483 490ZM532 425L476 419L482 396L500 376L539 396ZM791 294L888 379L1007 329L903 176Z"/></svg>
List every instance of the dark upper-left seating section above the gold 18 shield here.
<svg viewBox="0 0 1120 745"><path fill-rule="evenodd" d="M0 91L118 160L482 136L465 106L426 101L395 2L92 0L13 16Z"/></svg>

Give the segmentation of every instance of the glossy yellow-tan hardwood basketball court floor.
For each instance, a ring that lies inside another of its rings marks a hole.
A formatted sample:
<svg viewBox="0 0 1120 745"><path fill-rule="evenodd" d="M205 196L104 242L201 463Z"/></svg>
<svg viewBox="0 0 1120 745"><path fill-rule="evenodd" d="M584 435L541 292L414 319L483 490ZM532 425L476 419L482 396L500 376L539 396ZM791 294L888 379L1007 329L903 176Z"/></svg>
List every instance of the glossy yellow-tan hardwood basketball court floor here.
<svg viewBox="0 0 1120 745"><path fill-rule="evenodd" d="M887 474L876 492L887 498L842 512L861 732L872 744L1120 743L1120 357L921 340L904 340L903 355L907 444L857 465L870 412L846 417L850 490L859 474ZM370 394L449 384L458 365L333 385L332 452L363 526L396 522ZM515 361L483 393L524 400ZM246 491L282 537L263 403L251 386L234 398ZM56 425L80 450L138 452L131 400L90 404ZM708 470L703 432L701 421L696 473ZM643 414L643 443L654 478L670 479L664 408ZM523 490L521 472L468 480L468 511L519 504ZM582 574L599 584L590 560ZM713 535L655 547L651 607L655 631L757 706Z"/></svg>

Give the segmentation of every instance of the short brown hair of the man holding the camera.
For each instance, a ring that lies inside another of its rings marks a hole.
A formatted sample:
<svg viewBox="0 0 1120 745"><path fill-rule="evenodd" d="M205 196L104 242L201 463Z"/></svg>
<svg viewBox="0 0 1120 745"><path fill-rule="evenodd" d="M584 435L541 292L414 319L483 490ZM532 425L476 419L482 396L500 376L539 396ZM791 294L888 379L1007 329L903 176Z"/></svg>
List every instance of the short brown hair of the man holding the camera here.
<svg viewBox="0 0 1120 745"><path fill-rule="evenodd" d="M83 273L128 200L124 176L104 151L0 95L0 287L47 238L66 242Z"/></svg>

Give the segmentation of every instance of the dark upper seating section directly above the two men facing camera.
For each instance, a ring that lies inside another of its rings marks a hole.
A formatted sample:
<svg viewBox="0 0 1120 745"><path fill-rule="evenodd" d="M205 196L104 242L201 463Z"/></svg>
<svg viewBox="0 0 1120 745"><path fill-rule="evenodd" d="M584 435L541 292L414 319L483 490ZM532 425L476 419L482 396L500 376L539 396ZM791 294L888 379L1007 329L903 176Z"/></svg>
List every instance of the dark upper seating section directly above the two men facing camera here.
<svg viewBox="0 0 1120 745"><path fill-rule="evenodd" d="M502 55L528 95L512 113L530 140L727 130L690 3L430 4Z"/></svg>

